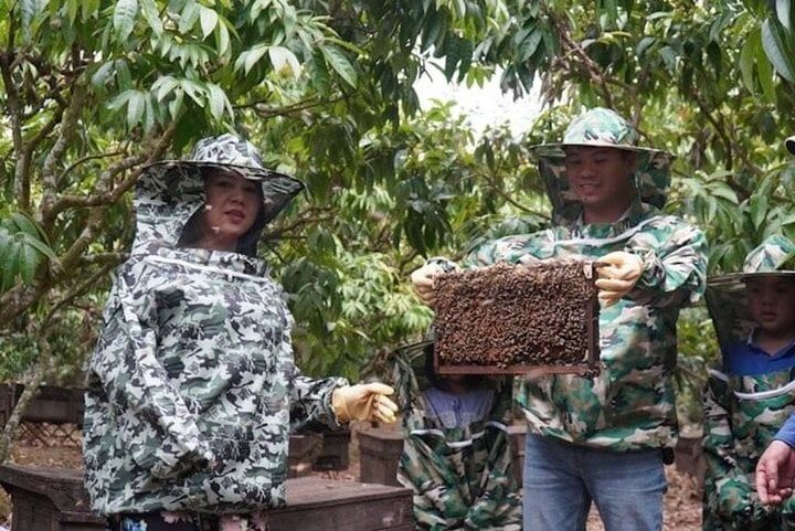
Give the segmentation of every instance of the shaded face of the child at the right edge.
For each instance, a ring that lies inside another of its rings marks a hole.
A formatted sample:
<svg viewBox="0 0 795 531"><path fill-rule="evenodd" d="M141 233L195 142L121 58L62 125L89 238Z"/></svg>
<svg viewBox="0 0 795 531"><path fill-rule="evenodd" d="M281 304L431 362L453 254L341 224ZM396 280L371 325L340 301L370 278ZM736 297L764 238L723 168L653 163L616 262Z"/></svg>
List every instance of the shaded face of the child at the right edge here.
<svg viewBox="0 0 795 531"><path fill-rule="evenodd" d="M751 318L774 336L795 336L795 278L770 276L745 283Z"/></svg>

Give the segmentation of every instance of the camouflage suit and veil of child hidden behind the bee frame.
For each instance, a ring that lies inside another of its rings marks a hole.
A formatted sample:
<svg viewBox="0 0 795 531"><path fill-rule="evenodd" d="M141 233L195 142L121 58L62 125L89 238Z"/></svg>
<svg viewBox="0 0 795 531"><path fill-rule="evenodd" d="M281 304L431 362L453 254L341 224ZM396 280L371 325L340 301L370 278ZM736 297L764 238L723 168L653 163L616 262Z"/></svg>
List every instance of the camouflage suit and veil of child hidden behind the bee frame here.
<svg viewBox="0 0 795 531"><path fill-rule="evenodd" d="M445 428L425 411L423 346L390 359L405 440L398 480L414 492L420 530L521 530L521 498L513 478L507 424L509 379L491 381L496 400L484 421Z"/></svg>

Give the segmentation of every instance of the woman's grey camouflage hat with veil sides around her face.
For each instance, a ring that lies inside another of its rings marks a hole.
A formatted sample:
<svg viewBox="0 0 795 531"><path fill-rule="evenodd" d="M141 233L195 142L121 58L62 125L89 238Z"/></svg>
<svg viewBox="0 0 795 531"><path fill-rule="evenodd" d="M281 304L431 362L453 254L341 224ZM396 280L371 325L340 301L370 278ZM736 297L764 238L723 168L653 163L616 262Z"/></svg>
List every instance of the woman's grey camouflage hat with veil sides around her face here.
<svg viewBox="0 0 795 531"><path fill-rule="evenodd" d="M258 181L262 209L254 226L241 238L237 251L254 254L259 232L297 195L304 184L292 177L263 167L256 148L231 134L203 138L187 160L157 162L145 169L134 201L137 216L132 253L178 245L189 220L204 205L204 174L208 170L232 171Z"/></svg>

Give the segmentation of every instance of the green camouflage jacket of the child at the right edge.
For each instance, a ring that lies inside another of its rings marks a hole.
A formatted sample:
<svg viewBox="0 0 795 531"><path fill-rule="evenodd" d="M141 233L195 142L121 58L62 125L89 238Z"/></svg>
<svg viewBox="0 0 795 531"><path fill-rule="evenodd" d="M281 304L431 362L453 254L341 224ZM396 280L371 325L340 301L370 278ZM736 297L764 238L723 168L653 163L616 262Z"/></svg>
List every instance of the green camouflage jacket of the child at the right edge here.
<svg viewBox="0 0 795 531"><path fill-rule="evenodd" d="M795 368L734 375L711 370L704 393L703 529L792 529L795 498L778 508L761 503L756 460L795 411Z"/></svg>

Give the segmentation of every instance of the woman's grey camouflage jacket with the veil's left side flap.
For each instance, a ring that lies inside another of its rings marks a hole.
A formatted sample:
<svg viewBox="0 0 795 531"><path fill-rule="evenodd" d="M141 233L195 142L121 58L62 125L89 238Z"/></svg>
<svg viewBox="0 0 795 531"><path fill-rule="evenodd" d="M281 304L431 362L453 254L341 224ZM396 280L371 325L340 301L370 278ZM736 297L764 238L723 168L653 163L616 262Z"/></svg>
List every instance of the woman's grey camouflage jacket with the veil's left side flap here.
<svg viewBox="0 0 795 531"><path fill-rule="evenodd" d="M264 264L174 247L202 199L163 191L200 181L163 166L139 184L136 245L87 381L85 486L99 514L279 507L290 425L337 423L330 394L347 382L296 369L293 318Z"/></svg>

